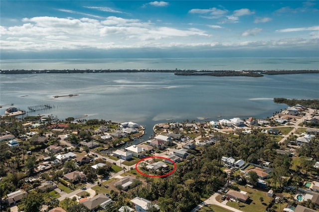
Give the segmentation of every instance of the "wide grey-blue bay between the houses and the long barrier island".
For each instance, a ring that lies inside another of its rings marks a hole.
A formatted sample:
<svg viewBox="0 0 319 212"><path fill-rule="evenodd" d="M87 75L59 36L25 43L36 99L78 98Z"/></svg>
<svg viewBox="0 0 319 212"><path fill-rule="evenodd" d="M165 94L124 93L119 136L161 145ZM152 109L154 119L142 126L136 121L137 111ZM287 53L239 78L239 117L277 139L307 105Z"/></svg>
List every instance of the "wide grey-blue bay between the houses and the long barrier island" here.
<svg viewBox="0 0 319 212"><path fill-rule="evenodd" d="M88 115L86 119L135 121L145 125L148 134L155 123L167 119L265 118L286 107L274 104L275 97L319 98L318 74L260 78L172 73L22 74L0 75L0 80L1 105L14 103L27 109L52 104L60 107L29 114L53 114L60 120ZM53 98L69 94L79 96Z"/></svg>

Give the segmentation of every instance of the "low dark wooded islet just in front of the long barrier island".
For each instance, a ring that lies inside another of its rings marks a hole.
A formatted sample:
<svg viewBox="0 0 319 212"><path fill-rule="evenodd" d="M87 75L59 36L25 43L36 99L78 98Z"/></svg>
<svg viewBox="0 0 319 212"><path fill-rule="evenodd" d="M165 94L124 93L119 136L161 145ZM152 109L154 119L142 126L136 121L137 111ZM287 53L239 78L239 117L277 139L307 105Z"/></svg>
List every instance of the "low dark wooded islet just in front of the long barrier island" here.
<svg viewBox="0 0 319 212"><path fill-rule="evenodd" d="M200 72L200 73L175 73L175 75L183 76L215 76L215 77L228 77L228 76L244 76L244 77L263 77L262 74L259 74L255 71L216 71L216 72Z"/></svg>

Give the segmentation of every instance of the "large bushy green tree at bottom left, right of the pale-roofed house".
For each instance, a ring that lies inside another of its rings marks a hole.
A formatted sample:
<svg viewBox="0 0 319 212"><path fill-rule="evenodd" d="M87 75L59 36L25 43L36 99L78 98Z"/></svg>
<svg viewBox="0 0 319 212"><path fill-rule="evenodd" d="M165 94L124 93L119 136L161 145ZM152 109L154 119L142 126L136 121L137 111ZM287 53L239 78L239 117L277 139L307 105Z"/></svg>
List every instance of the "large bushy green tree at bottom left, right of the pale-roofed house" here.
<svg viewBox="0 0 319 212"><path fill-rule="evenodd" d="M42 194L30 193L22 198L21 203L18 205L18 211L21 212L40 212L44 202Z"/></svg>

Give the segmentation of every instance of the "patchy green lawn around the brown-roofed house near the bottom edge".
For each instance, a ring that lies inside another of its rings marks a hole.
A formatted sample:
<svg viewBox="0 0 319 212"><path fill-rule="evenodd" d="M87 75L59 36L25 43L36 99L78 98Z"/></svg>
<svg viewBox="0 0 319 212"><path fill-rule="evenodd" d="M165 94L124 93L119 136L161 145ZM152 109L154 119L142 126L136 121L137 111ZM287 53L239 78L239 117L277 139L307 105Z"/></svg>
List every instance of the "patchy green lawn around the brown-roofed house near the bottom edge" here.
<svg viewBox="0 0 319 212"><path fill-rule="evenodd" d="M247 192L247 195L250 197L248 204L245 203L236 203L228 201L227 206L230 206L235 209L240 209L244 212L264 212L266 210L267 204L272 200L272 198L267 196L267 191L245 188L244 186L236 185L241 191ZM264 201L261 203L259 198L263 197Z"/></svg>

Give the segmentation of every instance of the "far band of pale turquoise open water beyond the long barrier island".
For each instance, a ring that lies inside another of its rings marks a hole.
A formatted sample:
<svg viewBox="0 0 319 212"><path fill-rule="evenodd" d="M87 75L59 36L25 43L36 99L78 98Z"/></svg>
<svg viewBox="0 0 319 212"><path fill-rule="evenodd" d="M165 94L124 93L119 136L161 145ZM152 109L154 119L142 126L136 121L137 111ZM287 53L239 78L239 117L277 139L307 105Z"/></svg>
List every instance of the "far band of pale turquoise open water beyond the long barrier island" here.
<svg viewBox="0 0 319 212"><path fill-rule="evenodd" d="M25 69L194 69L194 70L298 70L319 69L318 57L233 58L109 58L1 60L2 70Z"/></svg>

